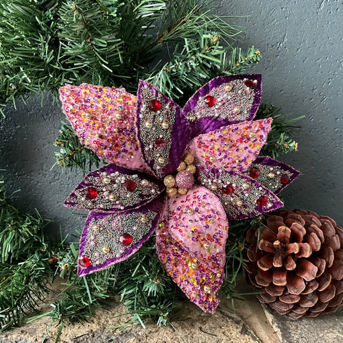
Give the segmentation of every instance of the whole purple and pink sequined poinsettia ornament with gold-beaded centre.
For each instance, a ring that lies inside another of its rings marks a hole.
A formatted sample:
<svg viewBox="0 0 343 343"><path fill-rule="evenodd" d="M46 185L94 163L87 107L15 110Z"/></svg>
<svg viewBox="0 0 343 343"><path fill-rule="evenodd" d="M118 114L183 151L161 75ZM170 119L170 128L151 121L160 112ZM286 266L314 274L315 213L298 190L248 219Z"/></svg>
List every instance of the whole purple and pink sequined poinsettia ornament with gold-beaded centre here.
<svg viewBox="0 0 343 343"><path fill-rule="evenodd" d="M223 76L180 108L147 82L60 88L81 143L109 164L65 201L90 211L78 275L128 259L156 232L156 252L187 297L213 313L224 279L228 220L283 206L276 193L299 174L257 157L272 119L252 121L261 75Z"/></svg>

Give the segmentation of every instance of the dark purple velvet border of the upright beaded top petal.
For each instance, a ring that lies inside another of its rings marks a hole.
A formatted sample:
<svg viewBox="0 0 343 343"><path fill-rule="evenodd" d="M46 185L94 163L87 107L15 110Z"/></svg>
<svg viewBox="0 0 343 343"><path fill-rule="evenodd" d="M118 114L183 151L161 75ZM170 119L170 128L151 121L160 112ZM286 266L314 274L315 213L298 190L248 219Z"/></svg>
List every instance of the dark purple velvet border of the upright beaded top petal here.
<svg viewBox="0 0 343 343"><path fill-rule="evenodd" d="M139 129L141 126L141 118L139 115L141 114L141 108L142 108L142 87L147 86L150 88L152 93L154 95L161 94L163 96L163 99L165 101L165 104L169 104L171 108L176 108L176 117L175 117L175 122L173 129L171 131L171 149L169 151L169 159L170 163L163 169L163 176L173 173L176 171L176 168L180 164L183 152L185 152L185 148L187 146L187 143L190 140L189 134L190 134L190 129L189 129L189 123L185 116L183 115L182 108L176 104L172 99L158 91L158 89L155 86L152 86L152 84L145 82L143 80L139 80L139 87L137 91L137 130L138 130L138 135L137 139L139 140L139 144L143 146L143 142L141 141L141 130ZM147 165L149 165L150 169L153 169L154 163L147 163L147 159L145 158L145 152L142 149L142 154L144 161ZM156 176L156 174L155 174ZM156 176L157 177L157 176Z"/></svg>

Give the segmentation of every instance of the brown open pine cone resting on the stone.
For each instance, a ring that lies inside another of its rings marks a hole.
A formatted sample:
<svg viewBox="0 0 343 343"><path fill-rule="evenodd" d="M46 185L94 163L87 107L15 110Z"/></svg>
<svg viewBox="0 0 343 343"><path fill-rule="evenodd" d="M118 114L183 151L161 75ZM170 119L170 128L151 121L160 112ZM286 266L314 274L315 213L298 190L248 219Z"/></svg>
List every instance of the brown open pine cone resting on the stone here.
<svg viewBox="0 0 343 343"><path fill-rule="evenodd" d="M294 318L342 305L343 230L330 217L279 211L250 228L246 241L246 270L261 303Z"/></svg>

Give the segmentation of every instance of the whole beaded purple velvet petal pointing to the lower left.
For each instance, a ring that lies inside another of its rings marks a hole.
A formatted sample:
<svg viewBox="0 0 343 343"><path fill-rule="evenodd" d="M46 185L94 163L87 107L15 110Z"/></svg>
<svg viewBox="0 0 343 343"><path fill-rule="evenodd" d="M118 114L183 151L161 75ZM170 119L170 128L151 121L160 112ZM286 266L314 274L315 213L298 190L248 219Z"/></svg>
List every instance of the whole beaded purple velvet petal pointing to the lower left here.
<svg viewBox="0 0 343 343"><path fill-rule="evenodd" d="M78 276L107 268L137 252L154 232L162 210L160 197L120 214L89 213L80 241ZM90 262L87 266L85 258Z"/></svg>

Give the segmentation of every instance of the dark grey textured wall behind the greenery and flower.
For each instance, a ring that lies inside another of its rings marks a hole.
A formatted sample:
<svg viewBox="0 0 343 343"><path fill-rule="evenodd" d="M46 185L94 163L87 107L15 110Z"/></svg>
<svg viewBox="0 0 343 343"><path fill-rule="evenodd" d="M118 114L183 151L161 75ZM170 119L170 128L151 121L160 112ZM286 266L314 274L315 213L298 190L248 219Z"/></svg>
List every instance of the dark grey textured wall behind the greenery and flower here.
<svg viewBox="0 0 343 343"><path fill-rule="evenodd" d="M294 134L298 153L280 159L303 172L282 194L288 209L311 209L343 224L343 93L342 0L225 0L215 2L220 15L251 15L233 19L246 25L241 43L255 45L263 56L249 72L263 74L263 102L284 113L305 115L301 132ZM8 193L25 211L38 209L54 224L49 234L82 230L84 218L73 215L62 202L80 182L82 172L55 167L53 143L64 119L51 96L28 106L9 104L0 119L0 168Z"/></svg>

